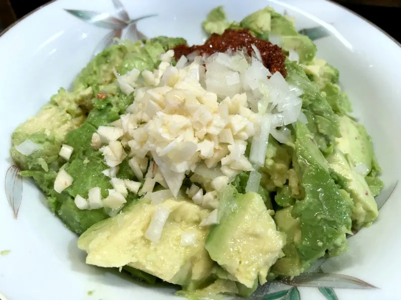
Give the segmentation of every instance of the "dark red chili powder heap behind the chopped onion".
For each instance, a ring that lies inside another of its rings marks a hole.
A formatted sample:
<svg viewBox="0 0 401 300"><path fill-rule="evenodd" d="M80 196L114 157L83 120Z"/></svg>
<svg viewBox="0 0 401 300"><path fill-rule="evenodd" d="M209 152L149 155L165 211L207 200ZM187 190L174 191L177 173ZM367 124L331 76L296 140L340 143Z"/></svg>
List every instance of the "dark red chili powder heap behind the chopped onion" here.
<svg viewBox="0 0 401 300"><path fill-rule="evenodd" d="M179 59L182 55L188 55L199 51L199 55L213 54L215 52L226 52L228 49L241 50L246 47L248 55L253 52L252 44L258 49L263 59L263 64L271 73L280 72L284 77L287 71L284 67L285 55L282 49L270 41L259 39L251 35L248 29L234 30L226 29L222 35L213 33L203 45L178 45L174 48L174 57Z"/></svg>

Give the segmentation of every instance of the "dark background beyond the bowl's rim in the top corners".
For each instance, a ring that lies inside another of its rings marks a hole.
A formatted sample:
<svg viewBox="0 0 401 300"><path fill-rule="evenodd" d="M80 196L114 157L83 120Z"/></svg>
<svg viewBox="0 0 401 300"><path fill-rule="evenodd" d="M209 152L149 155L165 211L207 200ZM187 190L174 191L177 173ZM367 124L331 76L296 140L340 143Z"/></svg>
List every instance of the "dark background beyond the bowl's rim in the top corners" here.
<svg viewBox="0 0 401 300"><path fill-rule="evenodd" d="M2 15L1 10L7 9L7 2L11 4L15 18L19 19L48 1L0 0L0 16ZM337 2L360 14L401 41L401 25L398 21L398 17L401 15L401 0L337 0ZM6 8L3 8L3 5Z"/></svg>

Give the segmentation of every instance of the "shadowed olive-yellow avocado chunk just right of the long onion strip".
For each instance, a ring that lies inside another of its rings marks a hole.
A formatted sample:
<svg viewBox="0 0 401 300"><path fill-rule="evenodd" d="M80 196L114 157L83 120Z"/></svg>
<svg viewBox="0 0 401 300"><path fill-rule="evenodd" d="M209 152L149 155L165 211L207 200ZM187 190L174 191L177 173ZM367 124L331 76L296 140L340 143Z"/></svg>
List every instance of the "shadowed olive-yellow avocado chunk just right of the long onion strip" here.
<svg viewBox="0 0 401 300"><path fill-rule="evenodd" d="M272 136L269 137L266 150L265 165L260 169L262 174L261 185L267 190L275 190L283 187L288 179L291 155L290 149L284 144L279 144Z"/></svg>

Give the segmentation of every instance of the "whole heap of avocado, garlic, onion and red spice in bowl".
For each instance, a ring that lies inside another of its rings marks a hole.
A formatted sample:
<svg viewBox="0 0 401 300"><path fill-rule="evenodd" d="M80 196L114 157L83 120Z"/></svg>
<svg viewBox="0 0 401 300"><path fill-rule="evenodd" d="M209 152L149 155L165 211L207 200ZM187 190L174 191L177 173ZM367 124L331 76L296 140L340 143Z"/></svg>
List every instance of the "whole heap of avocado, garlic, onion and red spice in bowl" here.
<svg viewBox="0 0 401 300"><path fill-rule="evenodd" d="M11 154L86 262L191 297L249 296L347 249L380 167L311 39L266 7L203 45L118 43L19 125Z"/></svg>

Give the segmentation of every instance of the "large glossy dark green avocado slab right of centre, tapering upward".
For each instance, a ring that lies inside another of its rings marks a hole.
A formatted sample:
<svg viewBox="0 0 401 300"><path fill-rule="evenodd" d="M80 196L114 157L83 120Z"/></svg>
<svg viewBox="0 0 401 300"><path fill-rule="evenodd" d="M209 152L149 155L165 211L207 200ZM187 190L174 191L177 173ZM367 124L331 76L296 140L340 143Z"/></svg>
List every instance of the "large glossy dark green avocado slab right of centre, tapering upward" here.
<svg viewBox="0 0 401 300"><path fill-rule="evenodd" d="M331 178L327 161L310 139L306 125L297 122L295 127L296 155L305 189L305 198L292 210L292 216L301 224L301 240L296 248L301 260L313 261L350 232L353 203Z"/></svg>

